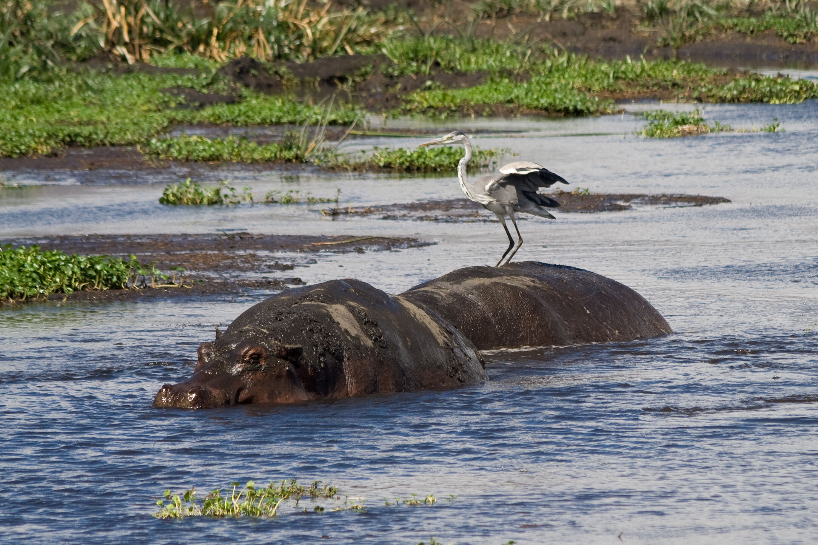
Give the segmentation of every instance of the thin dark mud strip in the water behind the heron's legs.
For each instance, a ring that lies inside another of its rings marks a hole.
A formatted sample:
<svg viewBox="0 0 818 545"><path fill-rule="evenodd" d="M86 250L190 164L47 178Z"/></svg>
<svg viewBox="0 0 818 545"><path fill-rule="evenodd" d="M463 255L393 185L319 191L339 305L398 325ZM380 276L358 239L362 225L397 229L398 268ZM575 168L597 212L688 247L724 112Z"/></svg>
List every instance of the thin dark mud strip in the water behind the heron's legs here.
<svg viewBox="0 0 818 545"><path fill-rule="evenodd" d="M699 207L705 204L729 203L724 197L681 194L549 194L560 202L556 212L621 212L634 206L663 206L667 208ZM393 203L366 208L326 208L324 216L380 215L384 220L416 221L495 221L494 215L469 199L431 200L420 203ZM524 215L522 215L524 217Z"/></svg>

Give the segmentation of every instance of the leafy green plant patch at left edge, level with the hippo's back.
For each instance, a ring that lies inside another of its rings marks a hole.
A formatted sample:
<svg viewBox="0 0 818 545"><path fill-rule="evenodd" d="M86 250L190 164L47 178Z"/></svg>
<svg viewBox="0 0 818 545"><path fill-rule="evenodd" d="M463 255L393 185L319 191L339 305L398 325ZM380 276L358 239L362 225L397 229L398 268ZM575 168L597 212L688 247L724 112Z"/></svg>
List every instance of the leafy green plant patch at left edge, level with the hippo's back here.
<svg viewBox="0 0 818 545"><path fill-rule="evenodd" d="M124 289L145 286L150 279L165 279L152 265L135 256L129 260L108 256L67 255L56 250L0 247L0 300L25 301L52 293L74 293L83 289Z"/></svg>

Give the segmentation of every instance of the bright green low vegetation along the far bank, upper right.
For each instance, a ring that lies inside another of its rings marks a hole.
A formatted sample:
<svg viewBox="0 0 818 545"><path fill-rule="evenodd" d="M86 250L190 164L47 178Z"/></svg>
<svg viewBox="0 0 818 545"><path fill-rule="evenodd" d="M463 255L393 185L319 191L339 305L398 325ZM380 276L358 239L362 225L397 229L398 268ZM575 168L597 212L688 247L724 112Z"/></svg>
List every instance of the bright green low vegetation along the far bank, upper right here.
<svg viewBox="0 0 818 545"><path fill-rule="evenodd" d="M412 92L398 110L404 114L610 114L616 106L606 97L622 93L670 93L687 100L772 104L818 96L818 85L807 80L758 74L730 78L724 69L678 60L591 60L550 49L447 38L407 40L403 47L393 40L388 45L384 51L402 71L423 73L434 64L444 71L489 73L488 82L476 87ZM483 47L486 51L479 51ZM423 63L412 62L413 55Z"/></svg>

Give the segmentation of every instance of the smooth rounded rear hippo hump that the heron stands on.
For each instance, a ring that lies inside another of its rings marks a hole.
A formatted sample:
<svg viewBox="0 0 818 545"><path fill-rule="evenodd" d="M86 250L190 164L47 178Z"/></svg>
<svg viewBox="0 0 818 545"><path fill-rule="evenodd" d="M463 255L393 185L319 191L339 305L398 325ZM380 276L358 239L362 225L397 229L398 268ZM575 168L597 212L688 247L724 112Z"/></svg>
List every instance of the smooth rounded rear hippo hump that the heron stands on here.
<svg viewBox="0 0 818 545"><path fill-rule="evenodd" d="M402 293L479 350L632 341L673 333L645 298L590 270L537 261L466 267Z"/></svg>

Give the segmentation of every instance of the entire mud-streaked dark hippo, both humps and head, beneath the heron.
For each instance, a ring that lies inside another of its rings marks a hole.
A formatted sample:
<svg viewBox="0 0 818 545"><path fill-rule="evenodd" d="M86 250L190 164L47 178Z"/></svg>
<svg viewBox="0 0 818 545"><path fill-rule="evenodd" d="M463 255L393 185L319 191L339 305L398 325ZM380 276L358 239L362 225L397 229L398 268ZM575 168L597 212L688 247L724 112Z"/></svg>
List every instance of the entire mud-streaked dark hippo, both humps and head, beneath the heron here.
<svg viewBox="0 0 818 545"><path fill-rule="evenodd" d="M389 295L355 279L293 288L199 346L155 407L298 403L488 380L481 350L672 333L631 288L535 261L466 267Z"/></svg>

